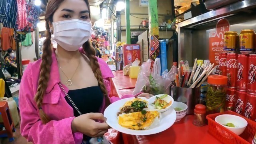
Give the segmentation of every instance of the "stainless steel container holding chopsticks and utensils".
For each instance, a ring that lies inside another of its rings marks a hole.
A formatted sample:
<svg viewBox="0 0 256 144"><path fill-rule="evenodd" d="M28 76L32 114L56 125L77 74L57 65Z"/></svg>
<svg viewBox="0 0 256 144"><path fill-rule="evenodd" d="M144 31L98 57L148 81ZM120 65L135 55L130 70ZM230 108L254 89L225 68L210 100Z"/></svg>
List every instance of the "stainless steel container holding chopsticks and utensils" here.
<svg viewBox="0 0 256 144"><path fill-rule="evenodd" d="M176 86L171 87L171 94L174 101L183 102L187 104L187 114L194 114L194 108L199 103L200 87L199 88L180 88Z"/></svg>

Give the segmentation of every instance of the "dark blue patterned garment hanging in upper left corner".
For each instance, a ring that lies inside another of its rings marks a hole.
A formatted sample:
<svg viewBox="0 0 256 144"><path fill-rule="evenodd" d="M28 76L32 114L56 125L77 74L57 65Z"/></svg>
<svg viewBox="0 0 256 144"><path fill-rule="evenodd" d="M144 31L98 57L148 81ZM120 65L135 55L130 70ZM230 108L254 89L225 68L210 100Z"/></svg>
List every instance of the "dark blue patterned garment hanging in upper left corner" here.
<svg viewBox="0 0 256 144"><path fill-rule="evenodd" d="M17 17L17 1L1 0L0 2L0 23L6 28L15 28Z"/></svg>

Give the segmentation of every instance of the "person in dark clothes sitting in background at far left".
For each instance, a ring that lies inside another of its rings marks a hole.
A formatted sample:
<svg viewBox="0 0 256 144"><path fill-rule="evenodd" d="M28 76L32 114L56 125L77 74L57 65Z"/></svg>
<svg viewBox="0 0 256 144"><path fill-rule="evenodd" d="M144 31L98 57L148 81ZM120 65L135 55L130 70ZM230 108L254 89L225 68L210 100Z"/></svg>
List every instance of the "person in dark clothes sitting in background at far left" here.
<svg viewBox="0 0 256 144"><path fill-rule="evenodd" d="M7 50L7 54L4 56L5 66L4 68L12 75L16 76L17 65L16 65L16 56L14 56L12 48Z"/></svg>

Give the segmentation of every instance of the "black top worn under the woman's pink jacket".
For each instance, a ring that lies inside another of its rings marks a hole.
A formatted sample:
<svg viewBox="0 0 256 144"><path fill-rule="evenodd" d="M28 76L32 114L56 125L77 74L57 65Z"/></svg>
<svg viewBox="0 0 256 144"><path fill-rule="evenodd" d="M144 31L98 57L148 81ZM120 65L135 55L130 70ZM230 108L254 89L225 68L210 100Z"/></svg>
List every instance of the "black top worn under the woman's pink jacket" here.
<svg viewBox="0 0 256 144"><path fill-rule="evenodd" d="M74 104L82 114L99 112L100 106L103 102L103 94L99 86L82 88L78 90L69 90L68 96L70 96L71 100L74 102ZM65 99L68 104L73 108L74 116L80 116L80 114L77 112L77 110L74 108L74 106L66 96ZM83 140L86 141L86 144L89 144L88 141L90 139L91 138L89 136L84 135Z"/></svg>

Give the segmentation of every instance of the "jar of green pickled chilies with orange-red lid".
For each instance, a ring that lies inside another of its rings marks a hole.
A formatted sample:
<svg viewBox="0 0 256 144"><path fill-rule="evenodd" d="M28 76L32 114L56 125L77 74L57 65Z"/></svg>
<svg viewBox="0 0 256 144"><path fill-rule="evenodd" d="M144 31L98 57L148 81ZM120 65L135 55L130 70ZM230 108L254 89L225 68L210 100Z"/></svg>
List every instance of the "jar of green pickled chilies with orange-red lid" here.
<svg viewBox="0 0 256 144"><path fill-rule="evenodd" d="M224 112L228 77L220 75L208 76L206 94L206 113Z"/></svg>

